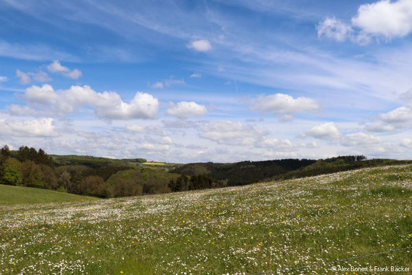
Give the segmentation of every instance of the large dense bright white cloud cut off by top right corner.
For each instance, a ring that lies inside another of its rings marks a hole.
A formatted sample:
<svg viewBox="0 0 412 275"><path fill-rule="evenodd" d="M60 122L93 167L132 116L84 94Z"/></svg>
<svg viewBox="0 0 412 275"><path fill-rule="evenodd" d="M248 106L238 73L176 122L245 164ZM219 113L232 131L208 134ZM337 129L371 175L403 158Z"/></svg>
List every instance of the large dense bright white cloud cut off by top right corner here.
<svg viewBox="0 0 412 275"><path fill-rule="evenodd" d="M352 24L387 39L406 36L412 31L412 1L382 0L361 5Z"/></svg>

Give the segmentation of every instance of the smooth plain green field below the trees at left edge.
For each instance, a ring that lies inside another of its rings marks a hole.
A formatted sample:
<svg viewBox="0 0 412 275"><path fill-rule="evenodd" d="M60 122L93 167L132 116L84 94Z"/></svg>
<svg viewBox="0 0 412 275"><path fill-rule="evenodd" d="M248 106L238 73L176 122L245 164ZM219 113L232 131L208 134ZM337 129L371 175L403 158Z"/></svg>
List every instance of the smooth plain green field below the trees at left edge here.
<svg viewBox="0 0 412 275"><path fill-rule="evenodd" d="M91 199L95 198L67 194L54 190L0 184L0 205L11 205L18 203L74 202L89 201Z"/></svg>

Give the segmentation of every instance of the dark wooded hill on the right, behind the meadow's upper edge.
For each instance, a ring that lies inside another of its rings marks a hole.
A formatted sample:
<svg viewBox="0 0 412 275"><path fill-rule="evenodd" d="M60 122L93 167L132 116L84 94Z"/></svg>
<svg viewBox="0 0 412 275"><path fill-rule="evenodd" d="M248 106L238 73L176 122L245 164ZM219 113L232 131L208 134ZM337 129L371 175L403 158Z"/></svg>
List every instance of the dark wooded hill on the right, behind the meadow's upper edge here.
<svg viewBox="0 0 412 275"><path fill-rule="evenodd" d="M411 164L409 160L369 159L363 155L347 155L328 159L276 159L262 162L192 163L170 170L187 176L208 175L215 180L227 180L228 186L252 184L273 179L294 179L336 173L358 168Z"/></svg>

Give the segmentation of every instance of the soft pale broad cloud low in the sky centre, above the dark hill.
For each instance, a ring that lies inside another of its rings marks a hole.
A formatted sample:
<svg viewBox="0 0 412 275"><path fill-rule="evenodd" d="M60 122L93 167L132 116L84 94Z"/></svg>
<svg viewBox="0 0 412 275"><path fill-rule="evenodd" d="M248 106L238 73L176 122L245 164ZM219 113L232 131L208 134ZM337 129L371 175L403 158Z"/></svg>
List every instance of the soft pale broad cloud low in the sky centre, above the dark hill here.
<svg viewBox="0 0 412 275"><path fill-rule="evenodd" d="M201 137L227 145L253 145L268 134L256 126L227 120L209 122L200 128Z"/></svg>

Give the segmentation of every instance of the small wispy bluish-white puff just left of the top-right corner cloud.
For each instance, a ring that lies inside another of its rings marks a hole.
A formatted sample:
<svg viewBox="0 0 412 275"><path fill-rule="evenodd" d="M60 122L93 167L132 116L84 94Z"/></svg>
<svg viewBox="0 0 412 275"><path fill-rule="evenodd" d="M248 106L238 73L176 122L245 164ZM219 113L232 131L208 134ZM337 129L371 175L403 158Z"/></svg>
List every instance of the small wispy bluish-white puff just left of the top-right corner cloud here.
<svg viewBox="0 0 412 275"><path fill-rule="evenodd" d="M347 25L334 17L328 17L317 25L317 32L319 37L325 36L328 39L343 42L350 34L352 34L353 30L350 25Z"/></svg>

